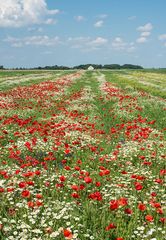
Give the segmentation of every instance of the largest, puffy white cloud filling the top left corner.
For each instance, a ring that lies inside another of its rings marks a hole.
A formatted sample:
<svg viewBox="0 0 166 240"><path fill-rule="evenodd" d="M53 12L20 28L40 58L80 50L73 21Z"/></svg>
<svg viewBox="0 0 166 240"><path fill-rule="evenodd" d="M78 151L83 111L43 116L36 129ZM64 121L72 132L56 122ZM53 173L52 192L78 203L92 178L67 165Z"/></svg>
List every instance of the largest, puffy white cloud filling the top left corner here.
<svg viewBox="0 0 166 240"><path fill-rule="evenodd" d="M48 10L45 0L1 0L0 27L21 27L44 23L58 9Z"/></svg>

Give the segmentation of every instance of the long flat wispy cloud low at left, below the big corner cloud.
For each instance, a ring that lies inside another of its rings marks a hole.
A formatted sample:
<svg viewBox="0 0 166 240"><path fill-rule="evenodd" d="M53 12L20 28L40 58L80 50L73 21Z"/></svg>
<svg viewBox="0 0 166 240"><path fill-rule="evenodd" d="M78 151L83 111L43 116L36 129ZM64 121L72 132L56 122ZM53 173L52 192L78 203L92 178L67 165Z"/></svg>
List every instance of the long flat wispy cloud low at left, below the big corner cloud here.
<svg viewBox="0 0 166 240"><path fill-rule="evenodd" d="M47 35L44 36L31 36L24 38L8 37L4 40L10 43L12 47L23 47L23 46L55 46L60 43L59 37L50 38Z"/></svg>

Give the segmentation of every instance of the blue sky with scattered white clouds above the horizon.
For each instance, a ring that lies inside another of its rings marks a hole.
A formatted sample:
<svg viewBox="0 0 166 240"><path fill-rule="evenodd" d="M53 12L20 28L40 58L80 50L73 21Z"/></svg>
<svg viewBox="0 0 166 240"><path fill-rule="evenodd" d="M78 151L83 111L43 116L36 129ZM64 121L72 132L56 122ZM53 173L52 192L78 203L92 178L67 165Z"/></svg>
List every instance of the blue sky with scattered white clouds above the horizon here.
<svg viewBox="0 0 166 240"><path fill-rule="evenodd" d="M0 0L0 65L166 67L166 0Z"/></svg>

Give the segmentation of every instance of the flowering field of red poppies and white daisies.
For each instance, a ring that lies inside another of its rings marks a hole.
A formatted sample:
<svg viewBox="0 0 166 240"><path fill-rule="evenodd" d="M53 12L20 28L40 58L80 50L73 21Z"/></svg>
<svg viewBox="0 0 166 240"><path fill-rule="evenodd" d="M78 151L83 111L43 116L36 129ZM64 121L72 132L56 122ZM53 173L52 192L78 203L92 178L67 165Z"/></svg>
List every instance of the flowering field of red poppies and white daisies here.
<svg viewBox="0 0 166 240"><path fill-rule="evenodd" d="M0 239L164 240L166 72L0 72Z"/></svg>

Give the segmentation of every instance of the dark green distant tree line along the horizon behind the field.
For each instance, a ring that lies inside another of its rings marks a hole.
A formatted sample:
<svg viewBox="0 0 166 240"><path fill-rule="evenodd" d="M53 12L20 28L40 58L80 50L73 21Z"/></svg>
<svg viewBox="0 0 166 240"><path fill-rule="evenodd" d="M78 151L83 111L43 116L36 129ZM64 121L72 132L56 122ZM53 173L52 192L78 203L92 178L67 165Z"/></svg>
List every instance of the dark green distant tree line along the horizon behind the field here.
<svg viewBox="0 0 166 240"><path fill-rule="evenodd" d="M142 66L139 65L133 65L133 64L124 64L124 65L119 65L119 64L81 64L78 66L74 67L67 67L67 66L45 66L45 67L35 67L35 68L12 68L13 70L70 70L70 69L83 69L86 70L88 69L89 66L92 66L94 69L143 69ZM0 70L7 69L4 68L3 66L0 66Z"/></svg>

